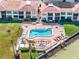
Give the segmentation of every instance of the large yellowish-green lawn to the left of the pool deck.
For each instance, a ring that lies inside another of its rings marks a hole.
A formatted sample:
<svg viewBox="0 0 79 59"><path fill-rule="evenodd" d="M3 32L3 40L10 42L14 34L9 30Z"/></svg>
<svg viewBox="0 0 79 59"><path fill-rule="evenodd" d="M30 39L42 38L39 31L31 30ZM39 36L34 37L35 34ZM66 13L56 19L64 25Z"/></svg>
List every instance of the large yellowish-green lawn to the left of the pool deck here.
<svg viewBox="0 0 79 59"><path fill-rule="evenodd" d="M12 59L13 49L11 40L16 44L22 31L19 23L0 24L0 59Z"/></svg>

